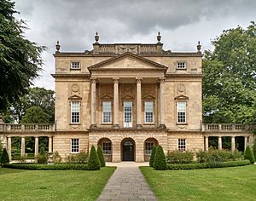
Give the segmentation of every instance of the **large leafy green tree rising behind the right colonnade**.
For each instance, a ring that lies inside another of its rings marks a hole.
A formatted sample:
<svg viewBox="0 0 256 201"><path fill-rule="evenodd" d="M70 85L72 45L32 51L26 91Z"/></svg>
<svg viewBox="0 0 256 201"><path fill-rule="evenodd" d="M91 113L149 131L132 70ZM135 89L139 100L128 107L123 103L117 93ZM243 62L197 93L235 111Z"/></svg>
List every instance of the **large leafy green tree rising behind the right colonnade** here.
<svg viewBox="0 0 256 201"><path fill-rule="evenodd" d="M224 31L203 59L204 123L252 123L256 103L256 25Z"/></svg>

